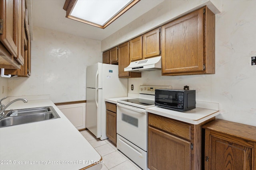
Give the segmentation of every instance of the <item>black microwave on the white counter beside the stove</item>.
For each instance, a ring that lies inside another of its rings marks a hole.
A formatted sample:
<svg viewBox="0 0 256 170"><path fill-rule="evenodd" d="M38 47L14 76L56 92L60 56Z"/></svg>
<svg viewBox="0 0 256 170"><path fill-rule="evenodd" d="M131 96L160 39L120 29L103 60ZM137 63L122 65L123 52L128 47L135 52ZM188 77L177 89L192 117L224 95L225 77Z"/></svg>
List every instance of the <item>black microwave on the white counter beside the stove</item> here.
<svg viewBox="0 0 256 170"><path fill-rule="evenodd" d="M155 106L176 111L196 108L196 90L156 89Z"/></svg>

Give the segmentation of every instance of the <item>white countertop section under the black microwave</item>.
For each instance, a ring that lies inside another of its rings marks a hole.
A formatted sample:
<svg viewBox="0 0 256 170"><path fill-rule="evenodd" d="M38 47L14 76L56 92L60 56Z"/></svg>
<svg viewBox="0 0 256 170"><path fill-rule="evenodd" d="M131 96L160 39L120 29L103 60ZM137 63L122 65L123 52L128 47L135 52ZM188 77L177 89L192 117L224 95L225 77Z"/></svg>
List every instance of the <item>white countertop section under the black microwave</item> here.
<svg viewBox="0 0 256 170"><path fill-rule="evenodd" d="M146 108L146 111L194 125L198 125L219 114L218 110L204 109L200 107L196 107L195 109L191 109L189 111L180 112L154 106Z"/></svg>

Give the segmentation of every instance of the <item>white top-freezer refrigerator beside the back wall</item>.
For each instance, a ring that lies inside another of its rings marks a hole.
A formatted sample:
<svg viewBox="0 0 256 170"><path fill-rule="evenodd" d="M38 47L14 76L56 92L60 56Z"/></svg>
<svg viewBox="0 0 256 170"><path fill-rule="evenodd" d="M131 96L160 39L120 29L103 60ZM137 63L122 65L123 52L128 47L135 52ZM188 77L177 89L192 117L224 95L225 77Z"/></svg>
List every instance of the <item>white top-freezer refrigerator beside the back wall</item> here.
<svg viewBox="0 0 256 170"><path fill-rule="evenodd" d="M106 136L106 98L127 96L128 79L118 78L118 65L96 63L86 69L86 128L100 140Z"/></svg>

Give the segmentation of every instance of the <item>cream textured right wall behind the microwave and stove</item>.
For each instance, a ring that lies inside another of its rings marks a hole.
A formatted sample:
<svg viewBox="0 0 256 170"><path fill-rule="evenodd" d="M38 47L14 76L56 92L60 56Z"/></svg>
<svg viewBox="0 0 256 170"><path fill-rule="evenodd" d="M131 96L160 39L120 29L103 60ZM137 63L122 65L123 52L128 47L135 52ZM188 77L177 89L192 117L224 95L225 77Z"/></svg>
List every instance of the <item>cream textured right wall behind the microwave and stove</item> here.
<svg viewBox="0 0 256 170"><path fill-rule="evenodd" d="M189 3L189 1L182 1ZM139 85L188 85L196 90L196 100L219 103L218 118L256 126L256 1L221 1L216 14L216 74L161 76L161 71L144 72L130 78L135 93ZM129 89L129 93L134 93Z"/></svg>

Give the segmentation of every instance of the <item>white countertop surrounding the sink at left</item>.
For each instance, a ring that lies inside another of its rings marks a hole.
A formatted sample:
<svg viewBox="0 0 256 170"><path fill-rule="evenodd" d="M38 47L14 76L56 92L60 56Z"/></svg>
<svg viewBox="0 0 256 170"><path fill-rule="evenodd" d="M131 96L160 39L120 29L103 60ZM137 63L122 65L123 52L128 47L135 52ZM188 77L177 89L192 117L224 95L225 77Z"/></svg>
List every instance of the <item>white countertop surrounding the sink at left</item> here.
<svg viewBox="0 0 256 170"><path fill-rule="evenodd" d="M101 169L101 163L92 166L100 154L51 100L18 101L8 109L42 106L53 106L60 118L0 128L0 169Z"/></svg>

